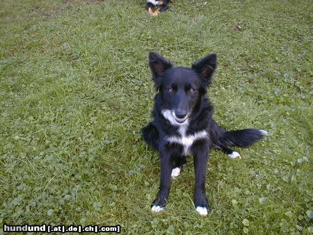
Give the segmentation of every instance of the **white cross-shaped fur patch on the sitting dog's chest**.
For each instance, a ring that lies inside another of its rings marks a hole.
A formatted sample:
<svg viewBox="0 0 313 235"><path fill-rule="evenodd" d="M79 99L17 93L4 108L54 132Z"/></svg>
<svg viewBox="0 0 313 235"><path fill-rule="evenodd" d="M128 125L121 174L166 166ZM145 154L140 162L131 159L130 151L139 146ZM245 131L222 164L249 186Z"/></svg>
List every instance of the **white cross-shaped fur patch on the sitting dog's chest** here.
<svg viewBox="0 0 313 235"><path fill-rule="evenodd" d="M180 131L179 131L180 132ZM184 131L186 132L186 131ZM204 140L209 138L207 131L199 131L192 135L186 135L182 133L182 136L170 136L167 138L168 143L176 143L184 147L184 155L190 155L190 148L196 140Z"/></svg>

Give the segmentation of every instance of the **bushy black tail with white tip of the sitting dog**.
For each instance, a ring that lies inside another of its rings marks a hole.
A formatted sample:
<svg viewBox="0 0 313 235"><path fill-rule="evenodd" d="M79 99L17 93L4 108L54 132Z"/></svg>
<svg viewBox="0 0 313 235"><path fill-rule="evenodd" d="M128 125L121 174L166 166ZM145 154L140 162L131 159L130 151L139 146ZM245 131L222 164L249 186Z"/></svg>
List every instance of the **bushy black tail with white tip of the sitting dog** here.
<svg viewBox="0 0 313 235"><path fill-rule="evenodd" d="M222 136L222 142L227 146L249 147L257 140L262 140L270 133L262 129L242 129L238 131L226 131Z"/></svg>

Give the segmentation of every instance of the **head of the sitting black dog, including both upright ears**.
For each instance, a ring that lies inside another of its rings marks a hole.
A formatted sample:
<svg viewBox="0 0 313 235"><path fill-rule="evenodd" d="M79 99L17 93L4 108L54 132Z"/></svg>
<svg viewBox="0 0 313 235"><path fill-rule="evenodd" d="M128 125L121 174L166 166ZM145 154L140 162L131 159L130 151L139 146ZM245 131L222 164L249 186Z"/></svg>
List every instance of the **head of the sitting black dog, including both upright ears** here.
<svg viewBox="0 0 313 235"><path fill-rule="evenodd" d="M163 102L163 116L172 124L184 124L207 92L216 69L216 54L195 61L191 68L174 67L157 52L150 52L150 68Z"/></svg>

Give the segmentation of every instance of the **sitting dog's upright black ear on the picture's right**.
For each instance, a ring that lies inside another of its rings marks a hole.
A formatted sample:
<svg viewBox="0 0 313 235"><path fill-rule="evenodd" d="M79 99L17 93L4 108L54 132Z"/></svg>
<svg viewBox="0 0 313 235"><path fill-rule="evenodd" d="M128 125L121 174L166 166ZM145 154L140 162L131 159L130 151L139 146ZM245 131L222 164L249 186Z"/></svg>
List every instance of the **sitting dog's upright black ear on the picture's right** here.
<svg viewBox="0 0 313 235"><path fill-rule="evenodd" d="M212 76L216 69L217 56L216 54L209 54L204 58L197 60L193 63L192 69L199 74L202 80L204 80L207 85L211 84Z"/></svg>

